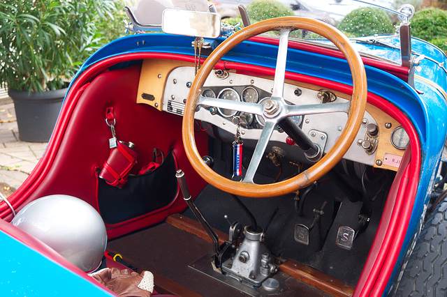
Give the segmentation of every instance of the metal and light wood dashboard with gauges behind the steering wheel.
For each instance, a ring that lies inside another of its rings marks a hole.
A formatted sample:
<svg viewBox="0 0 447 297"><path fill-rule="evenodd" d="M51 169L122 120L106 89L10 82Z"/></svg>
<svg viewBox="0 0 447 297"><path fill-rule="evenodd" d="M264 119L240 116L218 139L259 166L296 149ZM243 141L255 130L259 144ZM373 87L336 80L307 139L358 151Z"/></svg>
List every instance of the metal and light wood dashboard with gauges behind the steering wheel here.
<svg viewBox="0 0 447 297"><path fill-rule="evenodd" d="M161 67L162 66L162 67ZM157 72L154 72L157 69ZM194 67L182 61L146 60L142 66L137 102L146 103L164 112L182 116L186 98L194 78ZM201 95L209 98L262 103L270 98L272 77L246 75L233 71L214 70L207 78ZM293 82L286 79L284 100L289 105L330 105L332 102L349 102L351 96L323 89L319 86ZM219 131L218 137L233 142L237 121L244 145L255 146L261 136L263 118L213 106L203 106L196 111L195 119L200 129L214 137L210 125ZM328 153L342 134L348 116L344 112L293 116L293 121L313 142ZM402 126L380 109L367 105L362 125L344 158L362 164L397 170L408 135ZM270 138L271 146L281 147L290 158L298 158L302 151L286 133L277 127Z"/></svg>

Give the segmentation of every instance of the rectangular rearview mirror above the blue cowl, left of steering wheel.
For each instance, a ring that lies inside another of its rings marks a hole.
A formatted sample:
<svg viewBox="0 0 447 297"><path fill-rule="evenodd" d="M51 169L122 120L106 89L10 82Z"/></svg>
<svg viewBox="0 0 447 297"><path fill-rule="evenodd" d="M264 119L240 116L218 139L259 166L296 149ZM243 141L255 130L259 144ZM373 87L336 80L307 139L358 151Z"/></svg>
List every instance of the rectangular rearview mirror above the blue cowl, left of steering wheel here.
<svg viewBox="0 0 447 297"><path fill-rule="evenodd" d="M221 33L221 17L217 13L166 9L161 29L177 35L217 38Z"/></svg>

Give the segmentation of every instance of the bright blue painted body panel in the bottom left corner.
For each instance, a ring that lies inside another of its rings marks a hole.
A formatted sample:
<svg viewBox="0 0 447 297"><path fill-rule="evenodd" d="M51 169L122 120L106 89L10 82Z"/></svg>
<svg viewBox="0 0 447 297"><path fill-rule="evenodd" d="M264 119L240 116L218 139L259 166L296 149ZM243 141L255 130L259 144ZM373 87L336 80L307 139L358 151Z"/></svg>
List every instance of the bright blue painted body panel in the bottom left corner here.
<svg viewBox="0 0 447 297"><path fill-rule="evenodd" d="M0 232L0 296L115 296Z"/></svg>

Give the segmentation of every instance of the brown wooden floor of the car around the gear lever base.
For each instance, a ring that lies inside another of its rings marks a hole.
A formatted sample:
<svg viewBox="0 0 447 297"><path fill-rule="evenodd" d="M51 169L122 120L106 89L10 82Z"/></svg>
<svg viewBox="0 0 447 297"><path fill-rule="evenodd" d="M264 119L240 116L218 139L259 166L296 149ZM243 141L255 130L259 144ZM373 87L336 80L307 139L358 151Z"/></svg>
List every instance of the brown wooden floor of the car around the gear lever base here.
<svg viewBox="0 0 447 297"><path fill-rule="evenodd" d="M228 239L227 234L216 233L220 243ZM186 297L248 296L191 267L212 251L212 241L200 223L184 215L171 215L165 223L115 238L108 243L108 250L122 254L133 266L154 273L160 293ZM347 297L353 292L349 284L293 261L281 264L280 273L290 275L281 297Z"/></svg>

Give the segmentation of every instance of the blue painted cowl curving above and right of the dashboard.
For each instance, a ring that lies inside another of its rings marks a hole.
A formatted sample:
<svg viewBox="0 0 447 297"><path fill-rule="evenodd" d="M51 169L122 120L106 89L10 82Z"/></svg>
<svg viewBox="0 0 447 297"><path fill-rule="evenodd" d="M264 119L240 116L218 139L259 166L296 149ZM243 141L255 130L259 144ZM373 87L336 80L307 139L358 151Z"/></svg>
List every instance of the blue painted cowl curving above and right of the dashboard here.
<svg viewBox="0 0 447 297"><path fill-rule="evenodd" d="M223 38L214 40L220 43ZM186 36L171 36L163 33L150 33L126 36L109 43L98 50L85 62L77 75L94 63L111 56L138 52L167 52L193 56L191 42L193 38ZM381 39L390 46L399 47L399 40L395 36ZM400 52L390 47L378 45L356 44L358 50L368 54L375 54L383 59L400 63ZM420 77L430 80L444 90L447 90L447 74L443 68L446 65L446 55L437 47L416 38L412 39L412 49L416 54L425 54L430 59L424 59L420 66L422 72L416 73ZM225 59L239 61L253 65L274 68L277 50L275 46L253 42L244 42L229 52ZM415 207L409 222L409 232L406 234L404 245L398 259L398 264L388 283L384 295L388 294L395 283L400 266L403 264L411 242L418 234L421 220L430 198L435 173L439 166L444 139L447 134L447 105L446 98L434 86L416 79L418 93L402 81L383 70L366 66L368 90L383 98L387 98L409 116L420 138L423 151L422 171L416 197ZM321 56L300 50L288 51L287 70L305 75L321 77L343 84L352 84L351 72L346 61L328 56ZM75 81L75 79L73 79Z"/></svg>

